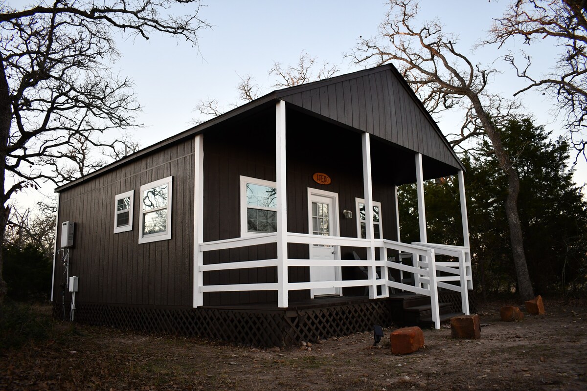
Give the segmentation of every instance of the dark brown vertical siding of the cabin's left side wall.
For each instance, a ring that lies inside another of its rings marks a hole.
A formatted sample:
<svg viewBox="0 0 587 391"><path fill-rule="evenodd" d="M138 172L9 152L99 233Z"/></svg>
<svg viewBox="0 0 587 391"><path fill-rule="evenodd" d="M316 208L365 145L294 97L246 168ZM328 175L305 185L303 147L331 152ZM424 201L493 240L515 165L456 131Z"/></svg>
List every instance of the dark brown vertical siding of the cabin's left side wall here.
<svg viewBox="0 0 587 391"><path fill-rule="evenodd" d="M171 239L139 244L140 186L173 176ZM134 191L133 229L113 233L114 198ZM59 224L76 223L70 276L76 300L128 305L192 305L194 140L170 145L87 182L59 198ZM60 243L60 230L58 232ZM55 265L54 296L63 267Z"/></svg>

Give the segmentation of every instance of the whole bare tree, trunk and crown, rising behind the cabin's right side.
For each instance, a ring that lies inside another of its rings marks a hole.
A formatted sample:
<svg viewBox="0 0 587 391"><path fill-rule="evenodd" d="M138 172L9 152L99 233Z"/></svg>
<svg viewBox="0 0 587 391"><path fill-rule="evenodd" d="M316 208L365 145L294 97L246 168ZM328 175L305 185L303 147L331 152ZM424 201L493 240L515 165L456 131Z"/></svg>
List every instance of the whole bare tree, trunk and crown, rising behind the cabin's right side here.
<svg viewBox="0 0 587 391"><path fill-rule="evenodd" d="M487 90L494 70L474 64L457 50L456 36L445 33L440 21L416 22L419 6L410 0L390 0L390 10L379 27L379 35L360 38L352 55L357 63L393 62L429 110L438 112L457 106L467 112L464 125L453 144L483 135L491 142L500 168L508 178L505 210L510 227L510 243L517 271L519 294L534 297L524 253L517 199L519 177L501 142L496 121L511 114L515 104Z"/></svg>

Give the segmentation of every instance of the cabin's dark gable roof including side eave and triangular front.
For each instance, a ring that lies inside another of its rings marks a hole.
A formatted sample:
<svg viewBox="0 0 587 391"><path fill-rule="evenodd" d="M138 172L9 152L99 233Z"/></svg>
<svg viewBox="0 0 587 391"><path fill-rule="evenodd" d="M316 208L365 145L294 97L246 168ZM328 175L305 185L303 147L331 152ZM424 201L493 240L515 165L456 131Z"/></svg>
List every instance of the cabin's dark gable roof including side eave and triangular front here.
<svg viewBox="0 0 587 391"><path fill-rule="evenodd" d="M464 170L463 164L448 144L436 121L410 89L406 80L396 67L385 64L274 90L205 123L195 125L150 147L134 152L82 178L59 186L55 191L60 192L104 172L112 171L118 166L144 157L158 149L203 133L231 118L264 110L278 100L284 100L288 107L295 106L317 117L328 118L346 127L368 132L456 169Z"/></svg>

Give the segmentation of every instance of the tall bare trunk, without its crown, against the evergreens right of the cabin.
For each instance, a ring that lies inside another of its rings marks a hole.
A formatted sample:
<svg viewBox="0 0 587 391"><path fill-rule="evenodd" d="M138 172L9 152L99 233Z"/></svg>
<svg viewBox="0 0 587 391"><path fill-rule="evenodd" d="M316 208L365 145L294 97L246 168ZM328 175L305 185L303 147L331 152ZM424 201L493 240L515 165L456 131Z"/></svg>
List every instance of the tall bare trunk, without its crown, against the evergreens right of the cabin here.
<svg viewBox="0 0 587 391"><path fill-rule="evenodd" d="M501 142L501 137L497 129L495 129L491 118L483 108L483 104L477 94L469 96L475 113L478 115L487 137L491 140L491 147L500 168L508 177L508 196L505 200L505 216L510 227L510 247L512 256L514 257L514 266L516 270L516 277L518 281L518 294L522 300L531 300L534 298L534 291L532 290L532 283L530 282L530 275L528 273L528 264L526 262L526 254L524 252L524 239L522 237L522 226L519 222L518 215L518 194L519 194L519 176L514 168L514 164L510 160L508 152L505 150Z"/></svg>

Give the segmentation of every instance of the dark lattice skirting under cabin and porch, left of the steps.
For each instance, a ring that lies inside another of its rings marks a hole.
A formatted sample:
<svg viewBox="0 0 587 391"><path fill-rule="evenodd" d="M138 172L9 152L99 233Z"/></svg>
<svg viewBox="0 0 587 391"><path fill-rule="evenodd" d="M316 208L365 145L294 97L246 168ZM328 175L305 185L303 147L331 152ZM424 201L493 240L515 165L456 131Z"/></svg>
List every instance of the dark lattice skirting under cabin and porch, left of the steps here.
<svg viewBox="0 0 587 391"><path fill-rule="evenodd" d="M69 304L66 303L66 310ZM160 308L76 302L75 320L144 332L201 336L234 344L284 346L329 336L370 331L392 324L387 300L319 308L239 310L238 308ZM53 315L62 318L60 303Z"/></svg>

